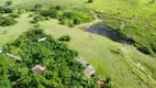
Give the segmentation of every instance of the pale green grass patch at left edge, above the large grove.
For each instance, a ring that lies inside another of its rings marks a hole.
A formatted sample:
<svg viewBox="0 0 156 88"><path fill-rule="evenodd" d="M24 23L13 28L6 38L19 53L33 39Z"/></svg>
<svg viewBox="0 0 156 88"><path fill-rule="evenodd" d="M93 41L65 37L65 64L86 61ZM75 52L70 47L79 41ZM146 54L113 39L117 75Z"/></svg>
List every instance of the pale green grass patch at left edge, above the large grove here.
<svg viewBox="0 0 156 88"><path fill-rule="evenodd" d="M0 26L0 47L31 28L29 23L31 18L27 16L27 13L21 14L21 18L16 19L19 23L13 26ZM4 33L4 31L7 31L7 33Z"/></svg>

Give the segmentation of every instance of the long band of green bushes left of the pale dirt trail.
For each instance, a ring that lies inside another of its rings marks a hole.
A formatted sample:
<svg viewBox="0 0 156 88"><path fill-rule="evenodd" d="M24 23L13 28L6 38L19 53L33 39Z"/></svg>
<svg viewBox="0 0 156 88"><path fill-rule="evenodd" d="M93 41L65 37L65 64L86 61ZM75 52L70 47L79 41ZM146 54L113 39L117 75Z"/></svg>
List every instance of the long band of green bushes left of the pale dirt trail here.
<svg viewBox="0 0 156 88"><path fill-rule="evenodd" d="M65 10L60 6L52 7L46 10L41 10L40 14L43 16L51 16L58 19L60 24L74 26L77 24L90 22L93 20L92 14L86 9Z"/></svg>

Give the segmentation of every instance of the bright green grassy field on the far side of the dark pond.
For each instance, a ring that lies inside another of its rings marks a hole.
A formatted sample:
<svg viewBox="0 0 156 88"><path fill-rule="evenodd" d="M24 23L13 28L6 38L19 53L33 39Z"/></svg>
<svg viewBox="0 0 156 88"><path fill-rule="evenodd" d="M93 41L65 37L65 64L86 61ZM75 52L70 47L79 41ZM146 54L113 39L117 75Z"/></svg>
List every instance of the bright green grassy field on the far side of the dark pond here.
<svg viewBox="0 0 156 88"><path fill-rule="evenodd" d="M138 44L137 47L144 46L152 51L152 44L156 42L155 1L96 0L87 7L101 13L104 25L130 35Z"/></svg>

